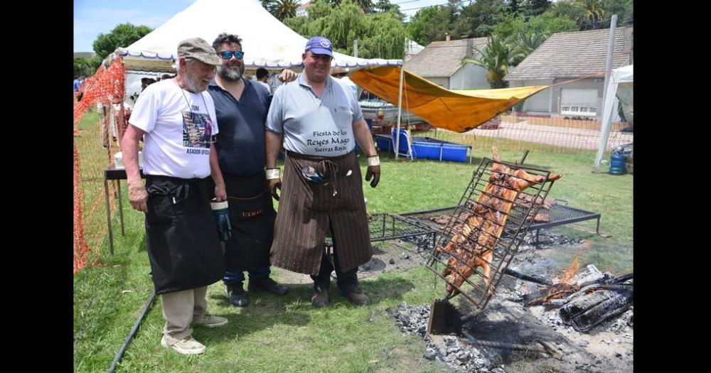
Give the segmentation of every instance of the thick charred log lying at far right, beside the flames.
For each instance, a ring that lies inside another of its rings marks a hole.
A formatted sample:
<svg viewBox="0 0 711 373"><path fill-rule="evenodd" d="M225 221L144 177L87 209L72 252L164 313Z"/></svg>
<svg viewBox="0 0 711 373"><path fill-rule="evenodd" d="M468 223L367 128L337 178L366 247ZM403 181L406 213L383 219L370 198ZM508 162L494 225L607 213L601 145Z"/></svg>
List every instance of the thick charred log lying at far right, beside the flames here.
<svg viewBox="0 0 711 373"><path fill-rule="evenodd" d="M579 332L587 332L624 313L634 301L634 289L631 286L622 288L623 291L603 289L575 298L560 308L561 320Z"/></svg>

